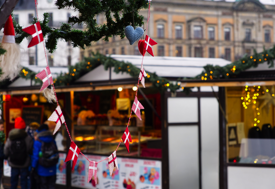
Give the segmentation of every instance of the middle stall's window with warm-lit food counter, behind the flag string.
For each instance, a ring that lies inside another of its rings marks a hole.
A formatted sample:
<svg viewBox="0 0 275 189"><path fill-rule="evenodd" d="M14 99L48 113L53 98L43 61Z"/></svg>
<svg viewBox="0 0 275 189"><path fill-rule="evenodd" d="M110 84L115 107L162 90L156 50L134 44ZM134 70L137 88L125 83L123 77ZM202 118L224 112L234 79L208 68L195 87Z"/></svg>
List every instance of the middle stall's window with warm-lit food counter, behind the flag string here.
<svg viewBox="0 0 275 189"><path fill-rule="evenodd" d="M161 121L149 103L161 115L161 95L152 88L142 89L137 98L142 120L132 112L136 87L118 90L74 92L73 140L83 153L109 155L116 148L129 122L132 142L127 152L121 142L117 155L161 158ZM131 119L129 116L131 114Z"/></svg>

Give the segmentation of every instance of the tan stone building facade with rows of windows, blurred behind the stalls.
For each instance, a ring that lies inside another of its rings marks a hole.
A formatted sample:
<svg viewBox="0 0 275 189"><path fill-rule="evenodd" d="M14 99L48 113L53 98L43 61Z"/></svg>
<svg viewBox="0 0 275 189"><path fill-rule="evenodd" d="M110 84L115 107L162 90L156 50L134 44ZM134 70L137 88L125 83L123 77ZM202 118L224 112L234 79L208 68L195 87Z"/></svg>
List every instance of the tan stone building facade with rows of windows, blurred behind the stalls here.
<svg viewBox="0 0 275 189"><path fill-rule="evenodd" d="M148 11L142 10L140 13L146 22ZM148 36L158 43L153 46L155 56L210 57L234 61L245 54L252 55L253 49L261 52L264 46L273 46L274 18L275 6L263 5L257 0L156 0L150 7ZM97 17L98 23L105 21L104 15ZM137 42L130 45L126 38L121 40L119 36L109 42L100 40L92 44L81 52L81 58L96 51L102 54L141 55Z"/></svg>

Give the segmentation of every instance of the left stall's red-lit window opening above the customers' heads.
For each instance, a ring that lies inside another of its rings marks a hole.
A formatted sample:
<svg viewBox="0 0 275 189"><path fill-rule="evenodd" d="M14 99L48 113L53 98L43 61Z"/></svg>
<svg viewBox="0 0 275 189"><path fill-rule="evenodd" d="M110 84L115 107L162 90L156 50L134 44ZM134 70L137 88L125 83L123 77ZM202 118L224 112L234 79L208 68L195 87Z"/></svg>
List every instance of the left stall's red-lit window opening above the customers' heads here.
<svg viewBox="0 0 275 189"><path fill-rule="evenodd" d="M67 111L65 110L64 94L57 94L59 105L65 117ZM48 103L42 94L26 94L26 95L3 95L4 112L1 115L5 120L5 132L8 133L14 128L14 120L17 117L22 117L26 123L26 132L34 138L36 129L40 124L47 124L49 130L53 131L55 122L48 121L52 112L55 111L55 103ZM54 135L56 145L59 151L66 151L66 140L68 134L65 125L62 124L59 131Z"/></svg>

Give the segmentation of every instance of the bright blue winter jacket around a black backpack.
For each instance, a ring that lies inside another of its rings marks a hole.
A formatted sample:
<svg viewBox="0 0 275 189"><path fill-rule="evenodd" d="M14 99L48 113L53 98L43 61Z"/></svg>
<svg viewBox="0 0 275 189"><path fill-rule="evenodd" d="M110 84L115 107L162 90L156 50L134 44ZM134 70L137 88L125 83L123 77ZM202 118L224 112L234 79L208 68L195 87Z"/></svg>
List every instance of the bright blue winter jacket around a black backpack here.
<svg viewBox="0 0 275 189"><path fill-rule="evenodd" d="M52 133L50 131L42 130L42 131L38 132L37 136L40 141L43 141L46 143L54 141L54 143L55 143L55 140L53 139ZM31 162L31 166L37 170L37 173L39 176L48 177L48 176L55 175L56 174L56 165L51 166L51 167L43 167L38 162L39 152L41 151L40 149L41 149L41 145L42 145L42 143L39 140L35 141L33 144L33 159Z"/></svg>

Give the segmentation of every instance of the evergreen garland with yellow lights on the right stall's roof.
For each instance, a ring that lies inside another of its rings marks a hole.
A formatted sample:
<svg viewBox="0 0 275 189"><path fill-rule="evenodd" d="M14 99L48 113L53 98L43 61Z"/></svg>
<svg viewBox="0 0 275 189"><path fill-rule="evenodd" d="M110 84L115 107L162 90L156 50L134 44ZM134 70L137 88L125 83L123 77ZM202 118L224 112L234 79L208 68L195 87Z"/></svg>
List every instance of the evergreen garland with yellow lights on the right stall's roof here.
<svg viewBox="0 0 275 189"><path fill-rule="evenodd" d="M204 70L201 74L195 77L195 79L201 78L202 80L207 79L221 79L221 78L236 78L240 72L249 69L251 67L257 67L259 64L267 61L269 64L269 68L274 66L275 59L275 45L273 48L266 50L264 48L263 52L257 53L254 49L254 55L247 56L245 55L241 59L232 62L231 64L220 67L218 65L206 65L204 66Z"/></svg>

